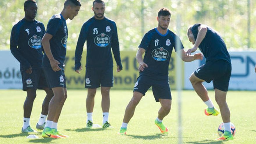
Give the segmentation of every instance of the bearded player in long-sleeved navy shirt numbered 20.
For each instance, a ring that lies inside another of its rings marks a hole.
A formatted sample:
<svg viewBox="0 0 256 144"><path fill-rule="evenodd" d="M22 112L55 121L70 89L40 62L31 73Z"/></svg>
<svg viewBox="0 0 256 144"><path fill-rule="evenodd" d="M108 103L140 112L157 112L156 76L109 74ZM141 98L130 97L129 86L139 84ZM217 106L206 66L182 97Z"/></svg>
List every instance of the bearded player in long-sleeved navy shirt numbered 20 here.
<svg viewBox="0 0 256 144"><path fill-rule="evenodd" d="M104 16L105 3L101 0L93 1L94 16L85 22L82 26L75 54L75 70L80 73L81 55L83 46L87 41L86 54L86 83L88 88L86 98L87 125L93 126L93 107L96 89L101 87L102 94L102 112L103 112L103 128L110 126L109 124L109 107L110 98L109 91L113 86L113 58L117 64L117 72L122 70L122 63L119 51L119 42L117 35L117 27L114 21Z"/></svg>

